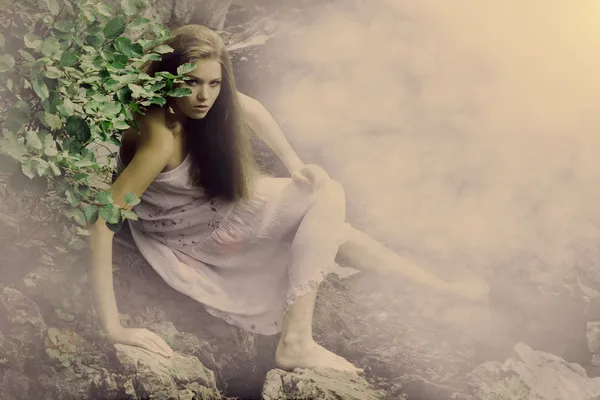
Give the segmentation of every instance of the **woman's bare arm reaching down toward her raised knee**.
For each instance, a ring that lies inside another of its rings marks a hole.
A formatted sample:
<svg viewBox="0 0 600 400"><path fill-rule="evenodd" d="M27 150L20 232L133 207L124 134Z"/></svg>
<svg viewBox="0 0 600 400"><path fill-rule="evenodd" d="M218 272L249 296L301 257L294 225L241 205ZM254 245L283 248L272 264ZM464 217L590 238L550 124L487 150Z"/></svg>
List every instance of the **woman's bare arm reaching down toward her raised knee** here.
<svg viewBox="0 0 600 400"><path fill-rule="evenodd" d="M304 163L300 160L265 106L258 100L243 93L238 92L238 96L250 129L273 150L290 173L302 169Z"/></svg>

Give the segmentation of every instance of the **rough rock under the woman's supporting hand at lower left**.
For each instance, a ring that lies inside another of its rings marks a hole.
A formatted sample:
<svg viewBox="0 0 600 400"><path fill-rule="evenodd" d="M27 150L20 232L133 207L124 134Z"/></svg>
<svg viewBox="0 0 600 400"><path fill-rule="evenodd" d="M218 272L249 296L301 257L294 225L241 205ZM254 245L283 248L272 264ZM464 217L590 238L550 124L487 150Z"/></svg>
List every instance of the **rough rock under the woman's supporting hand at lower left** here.
<svg viewBox="0 0 600 400"><path fill-rule="evenodd" d="M194 383L210 389L214 398L220 398L214 373L196 357L175 353L166 358L138 347L121 344L115 347L122 373L132 377L141 398L176 399L179 389L190 389Z"/></svg>

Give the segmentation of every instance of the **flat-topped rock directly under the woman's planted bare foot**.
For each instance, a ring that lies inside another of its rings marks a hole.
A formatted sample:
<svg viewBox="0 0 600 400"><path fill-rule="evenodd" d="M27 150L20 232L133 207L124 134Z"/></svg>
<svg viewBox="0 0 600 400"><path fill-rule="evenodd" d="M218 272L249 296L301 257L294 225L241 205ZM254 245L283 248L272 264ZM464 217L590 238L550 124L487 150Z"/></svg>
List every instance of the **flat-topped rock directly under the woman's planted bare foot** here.
<svg viewBox="0 0 600 400"><path fill-rule="evenodd" d="M385 393L376 390L365 378L332 370L273 369L267 374L263 400L344 399L380 400Z"/></svg>

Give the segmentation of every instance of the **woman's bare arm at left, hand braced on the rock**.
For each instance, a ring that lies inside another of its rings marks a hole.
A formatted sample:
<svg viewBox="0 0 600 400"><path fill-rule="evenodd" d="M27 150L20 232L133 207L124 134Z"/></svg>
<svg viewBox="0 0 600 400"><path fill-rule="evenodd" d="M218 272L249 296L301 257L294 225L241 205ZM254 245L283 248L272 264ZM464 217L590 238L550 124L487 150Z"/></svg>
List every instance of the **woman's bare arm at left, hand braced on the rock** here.
<svg viewBox="0 0 600 400"><path fill-rule="evenodd" d="M110 188L114 203L121 207L126 207L127 193L141 197L173 154L173 135L166 127L160 111L149 111L138 121L142 134L135 155ZM140 346L156 353L170 355L171 349L157 335L145 329L126 329L121 326L112 276L113 237L114 233L108 229L106 222L98 217L90 228L90 278L101 327L113 343Z"/></svg>

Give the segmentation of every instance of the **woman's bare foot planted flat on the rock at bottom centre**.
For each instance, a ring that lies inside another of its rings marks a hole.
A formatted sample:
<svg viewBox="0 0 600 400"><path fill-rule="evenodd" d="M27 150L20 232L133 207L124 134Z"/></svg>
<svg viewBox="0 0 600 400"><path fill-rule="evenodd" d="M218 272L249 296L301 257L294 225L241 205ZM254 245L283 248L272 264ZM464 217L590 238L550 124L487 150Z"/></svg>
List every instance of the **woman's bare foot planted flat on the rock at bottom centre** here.
<svg viewBox="0 0 600 400"><path fill-rule="evenodd" d="M364 371L348 360L332 353L314 340L305 343L284 343L280 341L275 352L275 365L286 371L294 368L334 369L362 374Z"/></svg>

